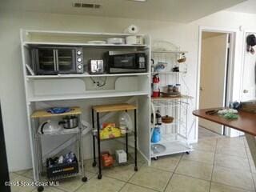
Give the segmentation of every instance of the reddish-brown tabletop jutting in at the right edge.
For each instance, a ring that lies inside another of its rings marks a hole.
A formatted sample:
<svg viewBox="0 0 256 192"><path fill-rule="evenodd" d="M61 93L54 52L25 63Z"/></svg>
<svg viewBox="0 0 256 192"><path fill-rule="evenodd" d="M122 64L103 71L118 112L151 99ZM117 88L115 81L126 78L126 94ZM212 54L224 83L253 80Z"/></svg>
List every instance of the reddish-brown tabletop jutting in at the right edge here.
<svg viewBox="0 0 256 192"><path fill-rule="evenodd" d="M217 122L223 126L229 126L235 130L241 130L246 134L256 136L256 114L248 113L245 111L238 112L238 119L222 118L218 114L206 114L206 111L214 109L194 110L193 114L199 118L205 118L211 122Z"/></svg>

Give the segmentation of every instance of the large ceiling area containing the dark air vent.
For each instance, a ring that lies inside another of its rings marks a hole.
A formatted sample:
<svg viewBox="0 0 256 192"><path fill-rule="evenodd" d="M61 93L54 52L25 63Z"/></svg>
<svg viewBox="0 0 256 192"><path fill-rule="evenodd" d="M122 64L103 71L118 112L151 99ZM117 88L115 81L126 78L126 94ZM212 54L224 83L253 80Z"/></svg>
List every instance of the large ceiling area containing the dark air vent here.
<svg viewBox="0 0 256 192"><path fill-rule="evenodd" d="M245 0L1 0L0 10L26 10L57 14L140 18L192 22ZM97 3L100 9L72 7L72 2Z"/></svg>

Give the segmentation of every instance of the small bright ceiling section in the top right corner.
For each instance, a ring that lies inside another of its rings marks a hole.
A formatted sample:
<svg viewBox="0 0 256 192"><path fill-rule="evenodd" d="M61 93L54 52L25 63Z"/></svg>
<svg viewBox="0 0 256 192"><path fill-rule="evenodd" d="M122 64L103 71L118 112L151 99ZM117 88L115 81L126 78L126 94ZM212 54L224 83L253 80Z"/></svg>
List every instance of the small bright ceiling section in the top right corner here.
<svg viewBox="0 0 256 192"><path fill-rule="evenodd" d="M248 0L246 2L239 3L237 6L233 6L228 10L248 14L256 14L256 1Z"/></svg>

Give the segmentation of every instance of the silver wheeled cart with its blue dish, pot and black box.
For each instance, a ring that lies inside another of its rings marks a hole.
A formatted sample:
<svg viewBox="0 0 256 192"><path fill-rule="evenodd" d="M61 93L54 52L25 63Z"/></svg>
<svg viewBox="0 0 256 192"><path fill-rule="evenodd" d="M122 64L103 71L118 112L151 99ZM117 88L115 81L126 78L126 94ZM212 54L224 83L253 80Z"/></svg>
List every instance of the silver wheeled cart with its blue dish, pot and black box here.
<svg viewBox="0 0 256 192"><path fill-rule="evenodd" d="M83 175L82 182L87 181L83 166L81 114L82 111L79 107L61 107L36 110L31 115L34 129L38 128L38 131L34 131L34 157L37 162L35 181L45 182L45 178L42 178L42 176L46 176L48 181L57 181L78 175ZM48 120L40 124L39 120L43 118L48 118ZM58 122L53 118L62 118L62 121ZM46 163L43 163L42 137L63 134L76 136L78 142L77 154L70 151L67 154L58 155L58 157L46 158ZM44 190L43 186L38 186L38 191L42 190Z"/></svg>

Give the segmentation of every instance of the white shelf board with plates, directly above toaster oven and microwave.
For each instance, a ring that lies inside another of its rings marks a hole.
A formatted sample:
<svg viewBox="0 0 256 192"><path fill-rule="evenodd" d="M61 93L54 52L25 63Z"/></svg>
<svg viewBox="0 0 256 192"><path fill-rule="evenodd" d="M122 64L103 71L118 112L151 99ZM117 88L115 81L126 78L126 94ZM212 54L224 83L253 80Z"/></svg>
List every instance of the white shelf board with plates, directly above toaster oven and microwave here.
<svg viewBox="0 0 256 192"><path fill-rule="evenodd" d="M86 42L23 42L23 46L114 46L114 47L146 47L146 44L142 45L128 45L128 44L97 44Z"/></svg>

